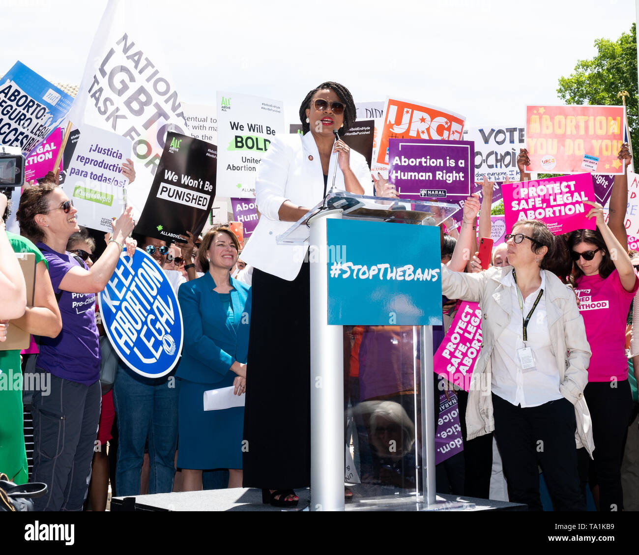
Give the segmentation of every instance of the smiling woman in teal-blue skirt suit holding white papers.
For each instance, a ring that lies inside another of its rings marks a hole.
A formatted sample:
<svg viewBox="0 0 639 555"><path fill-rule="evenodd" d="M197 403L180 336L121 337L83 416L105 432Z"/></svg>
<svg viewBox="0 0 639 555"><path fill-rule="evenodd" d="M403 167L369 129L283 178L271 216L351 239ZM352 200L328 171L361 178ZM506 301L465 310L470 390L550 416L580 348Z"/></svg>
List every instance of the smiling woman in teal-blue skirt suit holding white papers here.
<svg viewBox="0 0 639 555"><path fill-rule="evenodd" d="M176 376L180 387L178 467L182 489L202 489L202 471L229 469L229 488L242 487L244 407L204 410L204 391L233 387L243 395L249 348L250 287L231 278L238 239L228 228L213 228L198 259L204 276L178 292L184 346Z"/></svg>

